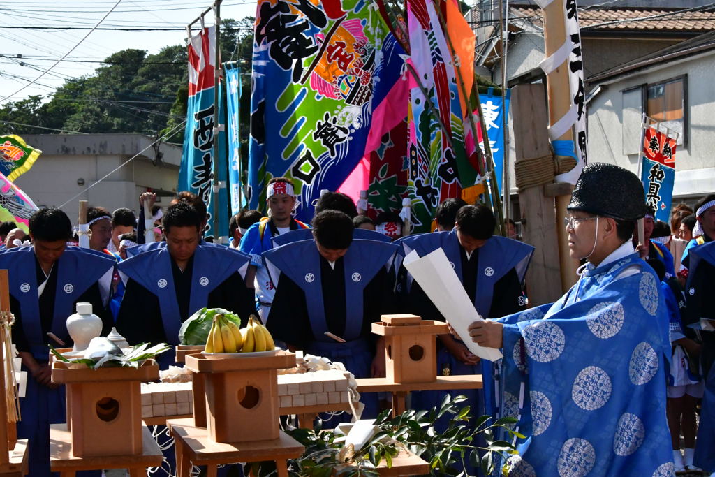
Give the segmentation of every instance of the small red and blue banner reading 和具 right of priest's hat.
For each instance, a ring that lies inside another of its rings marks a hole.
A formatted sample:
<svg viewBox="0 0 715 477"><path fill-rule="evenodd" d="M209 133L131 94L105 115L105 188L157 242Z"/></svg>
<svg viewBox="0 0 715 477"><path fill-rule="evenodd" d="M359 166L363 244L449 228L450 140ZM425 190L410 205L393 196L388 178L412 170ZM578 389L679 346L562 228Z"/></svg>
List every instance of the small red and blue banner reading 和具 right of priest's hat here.
<svg viewBox="0 0 715 477"><path fill-rule="evenodd" d="M641 181L646 203L656 210L656 220L669 223L673 185L675 184L675 147L677 137L647 126L643 134Z"/></svg>

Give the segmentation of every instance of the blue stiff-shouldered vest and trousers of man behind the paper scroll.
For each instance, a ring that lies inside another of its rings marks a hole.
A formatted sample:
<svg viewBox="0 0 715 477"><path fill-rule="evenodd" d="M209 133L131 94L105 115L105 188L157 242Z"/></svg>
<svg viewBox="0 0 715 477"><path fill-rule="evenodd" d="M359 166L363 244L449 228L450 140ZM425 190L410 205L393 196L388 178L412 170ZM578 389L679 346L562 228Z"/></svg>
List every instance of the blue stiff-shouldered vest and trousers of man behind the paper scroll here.
<svg viewBox="0 0 715 477"><path fill-rule="evenodd" d="M413 250L416 250L420 257L428 255L430 252L442 248L444 250L450 265L453 266L455 273L462 281L462 259L460 255L460 245L457 238L457 232L434 232L421 235L412 235L398 240L401 246L403 256L408 255ZM534 247L526 245L517 240L511 240L505 237L494 236L478 249L479 254L479 270L477 280L477 290L475 292L474 308L484 318L489 317L491 308L493 288L504 275L512 269L516 269L519 281L522 282L526 275L531 255ZM412 285L412 277L407 277L407 282L403 283L404 290L408 292ZM493 380L493 365L487 360L481 360L476 365L466 365L455 358L452 353L446 348L440 348L437 355L438 373L442 370L442 365L448 365L450 374L465 375L465 374L482 374L483 375L483 390L458 390L453 391L452 395L465 395L468 400L465 405L470 405L478 415L493 414L492 396L494 395ZM418 391L412 393L413 408L429 409L440 403L445 391ZM483 399L487 396L488 399Z"/></svg>

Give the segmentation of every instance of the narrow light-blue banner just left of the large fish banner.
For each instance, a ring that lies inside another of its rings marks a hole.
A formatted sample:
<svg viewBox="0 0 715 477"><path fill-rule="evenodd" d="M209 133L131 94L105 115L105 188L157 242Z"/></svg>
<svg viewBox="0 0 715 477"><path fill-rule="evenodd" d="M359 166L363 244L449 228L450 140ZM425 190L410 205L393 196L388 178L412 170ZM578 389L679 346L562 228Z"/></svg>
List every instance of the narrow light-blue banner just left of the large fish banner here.
<svg viewBox="0 0 715 477"><path fill-rule="evenodd" d="M226 132L228 140L228 192L231 198L231 215L246 205L245 192L241 190L241 138L239 135L239 112L241 101L241 70L232 65L225 69Z"/></svg>

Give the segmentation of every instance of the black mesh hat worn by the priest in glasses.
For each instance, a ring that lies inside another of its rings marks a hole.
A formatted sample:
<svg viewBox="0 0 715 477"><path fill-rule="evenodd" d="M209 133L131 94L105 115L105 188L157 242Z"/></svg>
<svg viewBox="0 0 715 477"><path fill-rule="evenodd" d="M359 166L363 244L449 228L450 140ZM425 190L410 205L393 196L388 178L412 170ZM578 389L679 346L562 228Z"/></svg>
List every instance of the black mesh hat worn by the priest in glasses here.
<svg viewBox="0 0 715 477"><path fill-rule="evenodd" d="M638 220L646 215L645 204L646 193L636 174L614 164L592 162L583 167L567 209Z"/></svg>

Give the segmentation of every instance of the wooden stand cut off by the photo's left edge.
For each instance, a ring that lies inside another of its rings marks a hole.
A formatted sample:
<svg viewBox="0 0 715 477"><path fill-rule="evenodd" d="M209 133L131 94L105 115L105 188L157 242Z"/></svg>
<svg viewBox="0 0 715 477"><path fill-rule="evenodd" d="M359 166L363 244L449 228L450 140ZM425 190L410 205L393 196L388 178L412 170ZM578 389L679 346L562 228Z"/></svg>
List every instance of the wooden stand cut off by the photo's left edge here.
<svg viewBox="0 0 715 477"><path fill-rule="evenodd" d="M27 439L17 439L13 410L16 407L16 387L12 375L10 345L10 292L7 270L0 270L0 477L20 477L27 473ZM10 406L14 406L11 408Z"/></svg>

